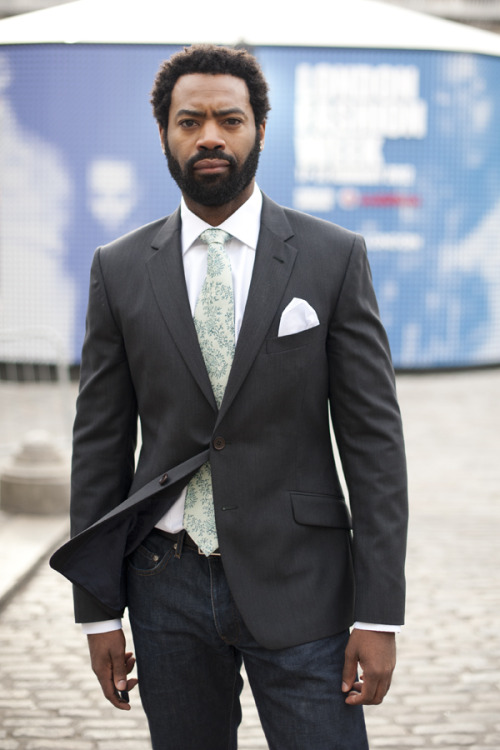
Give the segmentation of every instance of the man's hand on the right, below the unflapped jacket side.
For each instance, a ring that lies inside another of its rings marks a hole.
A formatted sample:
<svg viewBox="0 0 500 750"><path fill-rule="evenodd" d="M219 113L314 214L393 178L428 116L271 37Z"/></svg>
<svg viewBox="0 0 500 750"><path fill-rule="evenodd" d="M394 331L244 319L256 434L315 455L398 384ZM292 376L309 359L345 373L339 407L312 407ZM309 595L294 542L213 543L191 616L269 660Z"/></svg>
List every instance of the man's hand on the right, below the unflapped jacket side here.
<svg viewBox="0 0 500 750"><path fill-rule="evenodd" d="M358 663L362 669L356 681ZM345 651L342 692L349 693L350 706L382 703L389 690L396 666L394 633L374 630L353 630Z"/></svg>

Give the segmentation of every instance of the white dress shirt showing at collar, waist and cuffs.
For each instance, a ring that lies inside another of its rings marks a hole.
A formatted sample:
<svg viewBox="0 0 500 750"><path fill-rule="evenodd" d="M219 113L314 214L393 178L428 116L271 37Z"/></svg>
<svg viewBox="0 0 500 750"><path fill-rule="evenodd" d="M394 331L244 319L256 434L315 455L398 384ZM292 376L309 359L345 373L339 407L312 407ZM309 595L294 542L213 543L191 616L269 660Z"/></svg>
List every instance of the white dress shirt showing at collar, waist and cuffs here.
<svg viewBox="0 0 500 750"><path fill-rule="evenodd" d="M238 340L243 314L248 298L248 290L252 278L255 262L255 251L259 239L260 215L262 211L262 193L257 185L250 198L218 227L224 229L232 239L226 243L226 250L231 261L234 289L234 333L235 342ZM207 273L207 245L199 237L205 229L212 229L199 216L196 216L181 199L181 248L186 276L187 292L191 313L194 316L196 301L203 286ZM183 528L184 489L172 507L158 521L156 527L164 531L175 533ZM399 626L376 625L370 623L354 623L354 627L361 630L384 630L398 632ZM83 632L104 633L121 628L121 620L105 620L95 623L82 623Z"/></svg>

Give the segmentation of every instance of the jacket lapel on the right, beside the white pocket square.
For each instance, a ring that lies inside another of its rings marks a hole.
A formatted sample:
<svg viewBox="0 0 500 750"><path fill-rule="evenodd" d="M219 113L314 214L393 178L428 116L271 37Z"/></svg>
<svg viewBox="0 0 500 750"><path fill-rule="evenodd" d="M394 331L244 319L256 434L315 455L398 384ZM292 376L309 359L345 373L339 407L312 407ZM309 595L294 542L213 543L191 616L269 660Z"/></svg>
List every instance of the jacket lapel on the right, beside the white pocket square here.
<svg viewBox="0 0 500 750"><path fill-rule="evenodd" d="M217 422L224 417L262 345L292 273L297 250L283 209L263 196L259 242L233 365Z"/></svg>

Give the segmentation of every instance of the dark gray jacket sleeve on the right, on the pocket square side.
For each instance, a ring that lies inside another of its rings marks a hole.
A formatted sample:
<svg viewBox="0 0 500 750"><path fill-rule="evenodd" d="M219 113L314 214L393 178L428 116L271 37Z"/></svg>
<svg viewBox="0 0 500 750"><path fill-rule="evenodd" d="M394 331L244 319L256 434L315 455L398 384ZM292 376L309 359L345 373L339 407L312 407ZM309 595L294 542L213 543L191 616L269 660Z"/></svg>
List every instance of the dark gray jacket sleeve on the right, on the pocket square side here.
<svg viewBox="0 0 500 750"><path fill-rule="evenodd" d="M404 620L407 477L389 344L363 239L351 248L328 337L330 409L353 517L355 620Z"/></svg>

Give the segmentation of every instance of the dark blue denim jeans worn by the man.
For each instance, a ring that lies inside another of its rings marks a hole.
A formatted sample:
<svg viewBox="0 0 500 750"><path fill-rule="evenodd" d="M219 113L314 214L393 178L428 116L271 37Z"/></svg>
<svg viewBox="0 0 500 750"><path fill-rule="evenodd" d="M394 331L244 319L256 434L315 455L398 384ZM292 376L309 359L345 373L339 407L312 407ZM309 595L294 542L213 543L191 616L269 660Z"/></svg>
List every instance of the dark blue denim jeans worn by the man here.
<svg viewBox="0 0 500 750"><path fill-rule="evenodd" d="M246 629L220 557L153 531L130 557L129 615L154 750L235 750L242 661L270 750L367 750L346 706L348 633L270 651ZM287 613L283 613L286 617Z"/></svg>

